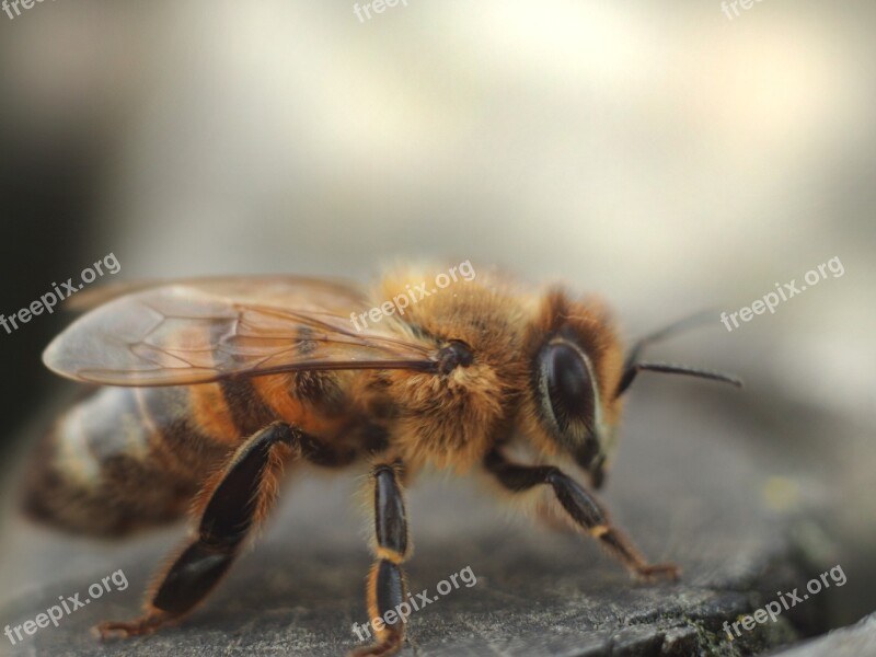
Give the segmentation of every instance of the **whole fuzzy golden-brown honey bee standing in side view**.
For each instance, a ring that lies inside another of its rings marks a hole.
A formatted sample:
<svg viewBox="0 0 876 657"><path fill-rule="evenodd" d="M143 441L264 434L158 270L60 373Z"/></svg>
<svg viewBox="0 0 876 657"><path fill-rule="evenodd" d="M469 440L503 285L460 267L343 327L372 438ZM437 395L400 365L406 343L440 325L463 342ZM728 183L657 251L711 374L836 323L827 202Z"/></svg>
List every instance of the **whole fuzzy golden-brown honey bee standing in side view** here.
<svg viewBox="0 0 876 657"><path fill-rule="evenodd" d="M55 338L45 364L104 388L41 443L26 509L106 537L187 509L193 520L142 614L101 623L102 637L152 633L198 607L270 511L284 468L296 464L370 466L370 618L406 597L404 488L426 466L480 470L511 497L553 493L555 510L633 576L679 575L671 563L648 563L556 463L602 485L623 394L639 371L738 379L642 361L642 348L666 331L624 355L599 299L496 272L354 327L351 312L380 308L428 276L399 268L370 291L292 276L155 284L103 302ZM511 449L530 456L514 460ZM383 624L354 654L392 655L403 639L402 620Z"/></svg>

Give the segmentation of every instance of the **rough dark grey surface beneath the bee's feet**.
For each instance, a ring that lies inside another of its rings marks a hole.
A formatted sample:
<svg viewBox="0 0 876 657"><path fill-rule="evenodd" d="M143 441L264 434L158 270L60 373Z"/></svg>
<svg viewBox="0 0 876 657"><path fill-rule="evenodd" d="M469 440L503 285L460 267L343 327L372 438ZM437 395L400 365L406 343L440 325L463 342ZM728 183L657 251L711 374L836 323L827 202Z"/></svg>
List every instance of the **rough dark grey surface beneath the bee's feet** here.
<svg viewBox="0 0 876 657"><path fill-rule="evenodd" d="M780 452L757 447L772 437L745 419L754 410L744 395L676 382L643 384L631 396L603 499L648 557L684 568L677 584L631 581L591 541L509 512L476 479L424 477L408 495L411 588L431 595L466 566L477 583L415 613L404 655L745 655L827 630L846 589L814 596L733 642L722 630L842 558L820 520L832 504L818 479L826 473L783 473ZM1 625L33 619L119 568L129 587L19 646L0 636L0 653L343 655L359 643L353 623L367 620L360 474L291 482L263 539L208 604L177 629L126 642L101 644L89 627L137 612L182 528L114 545L7 519ZM800 653L809 654L818 653Z"/></svg>

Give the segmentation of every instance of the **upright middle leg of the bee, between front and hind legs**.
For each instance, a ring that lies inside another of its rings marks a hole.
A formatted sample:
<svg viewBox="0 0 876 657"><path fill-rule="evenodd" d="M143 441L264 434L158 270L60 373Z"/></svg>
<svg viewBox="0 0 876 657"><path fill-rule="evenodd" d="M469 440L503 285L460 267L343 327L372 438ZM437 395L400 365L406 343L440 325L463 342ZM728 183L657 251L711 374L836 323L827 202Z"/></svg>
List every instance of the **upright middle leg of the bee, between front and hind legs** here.
<svg viewBox="0 0 876 657"><path fill-rule="evenodd" d="M407 586L401 567L410 554L410 541L399 468L400 465L380 464L371 472L377 561L368 576L368 614L371 621L364 630L369 637L369 627L373 630L377 642L350 653L354 657L378 657L397 653L404 641L404 624L411 613L411 607L404 602ZM406 613L404 608L407 609ZM359 625L355 627L361 638Z"/></svg>

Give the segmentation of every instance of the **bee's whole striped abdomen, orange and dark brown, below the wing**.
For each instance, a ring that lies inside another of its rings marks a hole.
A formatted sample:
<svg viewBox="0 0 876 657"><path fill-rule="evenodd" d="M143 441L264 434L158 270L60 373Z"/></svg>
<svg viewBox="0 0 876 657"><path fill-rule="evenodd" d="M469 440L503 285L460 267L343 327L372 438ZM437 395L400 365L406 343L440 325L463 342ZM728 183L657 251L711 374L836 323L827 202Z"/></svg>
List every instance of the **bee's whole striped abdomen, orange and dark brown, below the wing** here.
<svg viewBox="0 0 876 657"><path fill-rule="evenodd" d="M336 392L334 378L306 373L103 388L67 411L43 440L25 508L65 529L104 535L176 519L240 441L272 422L284 419L334 445L344 418L314 412L339 397L326 395L330 388ZM327 461L351 458L337 448L326 448Z"/></svg>

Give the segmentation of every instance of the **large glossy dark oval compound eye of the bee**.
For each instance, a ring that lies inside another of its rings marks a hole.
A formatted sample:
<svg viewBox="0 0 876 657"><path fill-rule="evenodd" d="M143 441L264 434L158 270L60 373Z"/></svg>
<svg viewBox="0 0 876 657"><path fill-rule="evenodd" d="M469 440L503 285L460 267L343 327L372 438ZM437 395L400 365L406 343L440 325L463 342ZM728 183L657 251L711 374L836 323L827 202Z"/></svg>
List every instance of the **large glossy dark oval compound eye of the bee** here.
<svg viewBox="0 0 876 657"><path fill-rule="evenodd" d="M564 437L593 427L596 394L585 359L578 349L562 342L546 345L541 353L542 404Z"/></svg>

